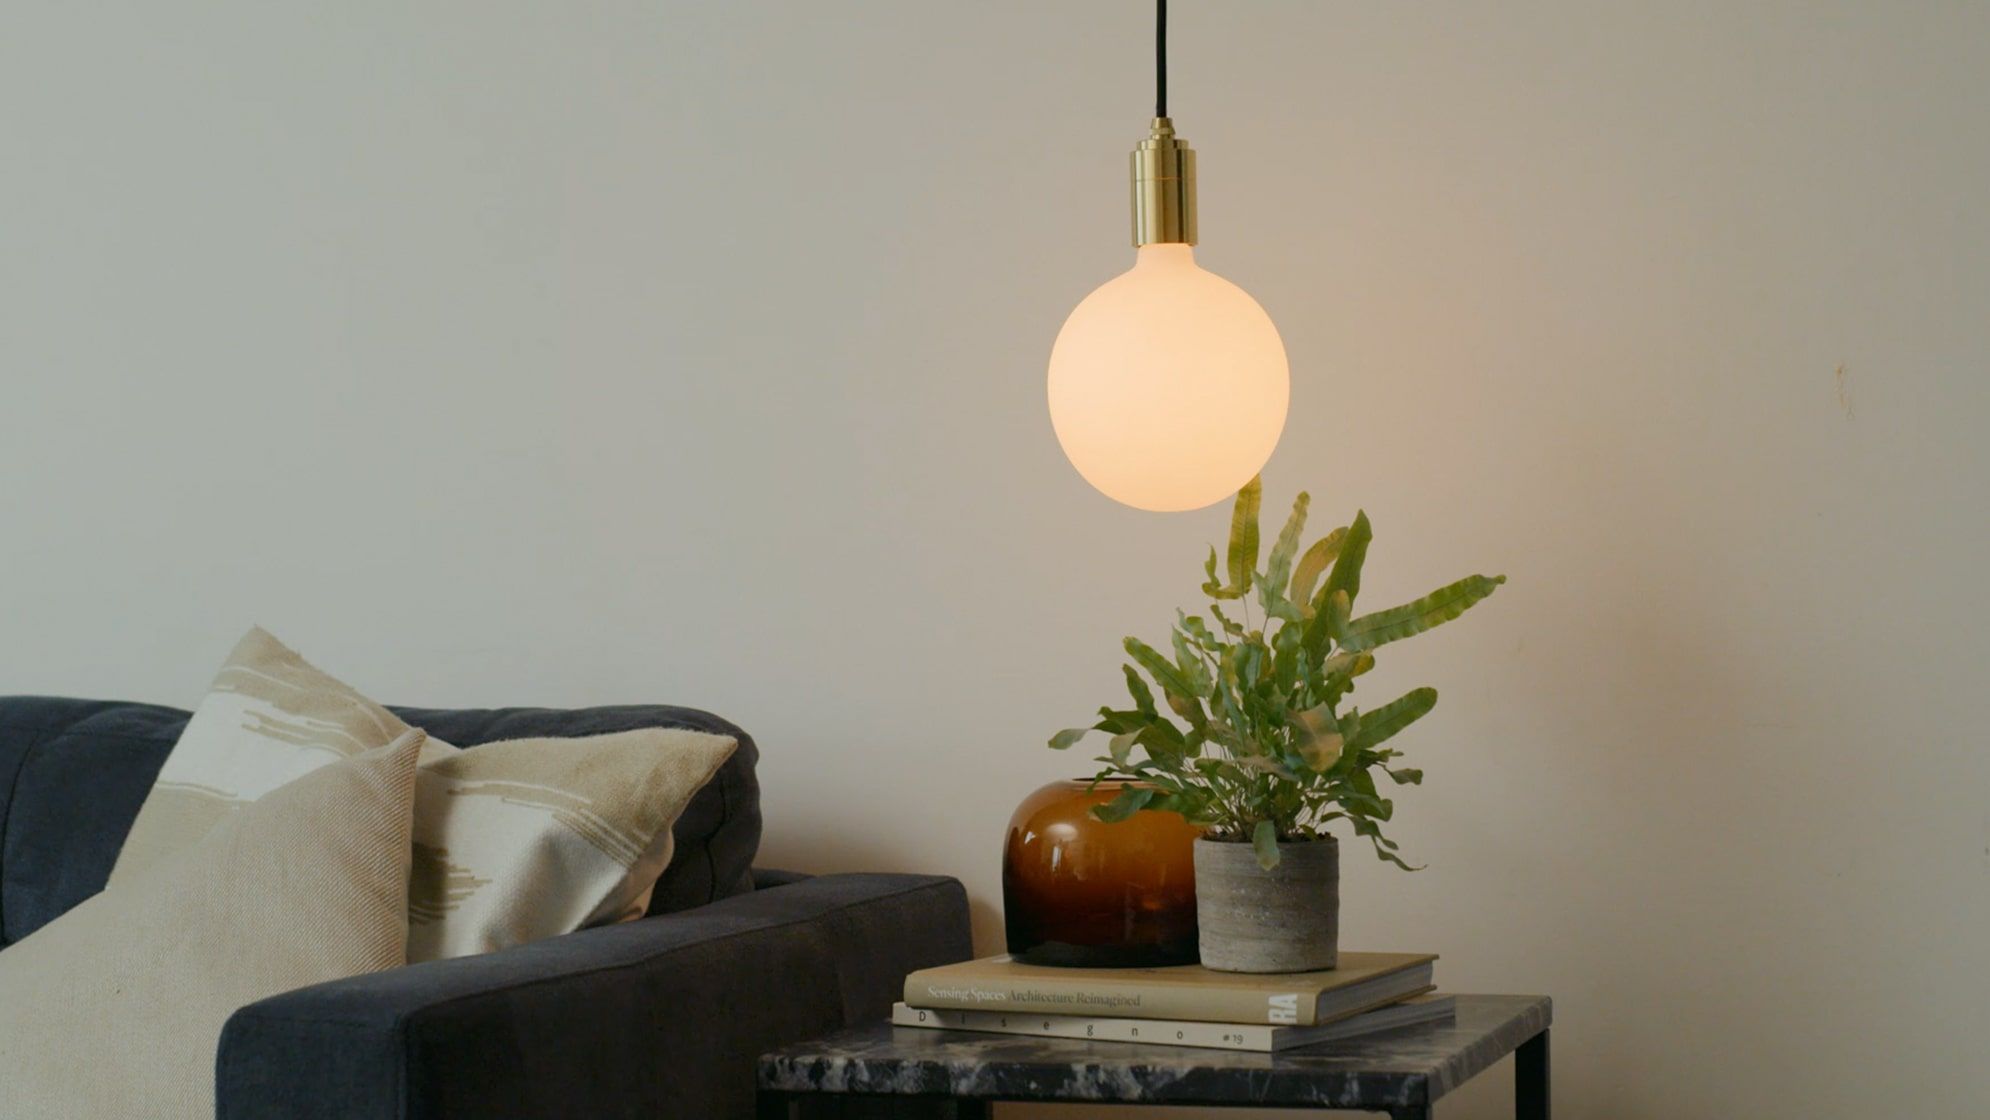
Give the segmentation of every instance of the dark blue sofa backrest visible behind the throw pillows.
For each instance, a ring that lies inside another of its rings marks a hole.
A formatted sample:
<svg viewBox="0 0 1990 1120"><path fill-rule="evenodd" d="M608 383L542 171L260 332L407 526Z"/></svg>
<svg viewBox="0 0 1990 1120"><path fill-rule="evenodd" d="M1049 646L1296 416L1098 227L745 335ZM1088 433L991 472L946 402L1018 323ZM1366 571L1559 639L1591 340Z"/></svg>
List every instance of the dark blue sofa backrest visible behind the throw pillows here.
<svg viewBox="0 0 1990 1120"><path fill-rule="evenodd" d="M738 750L679 818L677 851L651 913L675 913L752 889L760 847L758 750L710 712L619 708L394 708L456 746L501 738L693 728L738 738ZM0 947L103 889L189 712L121 700L0 696Z"/></svg>

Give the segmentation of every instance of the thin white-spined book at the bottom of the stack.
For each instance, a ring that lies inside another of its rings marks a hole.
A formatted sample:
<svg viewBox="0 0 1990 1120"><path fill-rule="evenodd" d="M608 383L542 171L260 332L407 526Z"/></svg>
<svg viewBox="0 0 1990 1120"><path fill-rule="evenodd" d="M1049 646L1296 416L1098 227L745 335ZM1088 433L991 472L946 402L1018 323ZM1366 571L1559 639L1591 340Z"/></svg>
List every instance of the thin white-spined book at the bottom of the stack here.
<svg viewBox="0 0 1990 1120"><path fill-rule="evenodd" d="M1455 997L1425 995L1375 1011L1349 1013L1335 1023L1319 1027L1266 1027L1256 1023L1196 1023L1192 1019L1087 1019L1083 1015L1023 1015L1019 1011L949 1011L897 1003L892 1005L892 1023L896 1027L935 1030L981 1030L991 1034L1043 1034L1051 1038L1276 1052L1315 1042L1359 1038L1399 1027L1451 1023L1455 1011Z"/></svg>

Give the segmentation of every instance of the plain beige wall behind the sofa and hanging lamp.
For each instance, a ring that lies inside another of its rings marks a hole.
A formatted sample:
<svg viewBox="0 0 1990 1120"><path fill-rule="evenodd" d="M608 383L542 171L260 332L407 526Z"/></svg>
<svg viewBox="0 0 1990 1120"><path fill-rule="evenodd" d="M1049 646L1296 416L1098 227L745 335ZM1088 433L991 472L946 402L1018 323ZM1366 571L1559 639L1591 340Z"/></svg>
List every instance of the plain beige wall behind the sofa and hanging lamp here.
<svg viewBox="0 0 1990 1120"><path fill-rule="evenodd" d="M121 10L117 10L121 8ZM945 871L1220 509L1065 466L1148 10L16 4L0 690L704 704L766 863ZM1347 941L1556 997L1570 1116L1990 1100L1990 6L1178 4L1272 503L1377 525L1429 784ZM1447 1116L1500 1116L1504 1070ZM1021 1114L1021 1112L1019 1112Z"/></svg>

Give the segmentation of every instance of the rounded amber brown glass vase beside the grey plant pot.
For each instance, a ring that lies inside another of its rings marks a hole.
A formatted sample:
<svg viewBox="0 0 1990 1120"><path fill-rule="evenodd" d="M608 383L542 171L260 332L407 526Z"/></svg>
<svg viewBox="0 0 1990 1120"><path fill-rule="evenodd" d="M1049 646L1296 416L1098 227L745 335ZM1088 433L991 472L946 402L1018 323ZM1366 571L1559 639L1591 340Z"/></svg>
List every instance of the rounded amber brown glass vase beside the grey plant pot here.
<svg viewBox="0 0 1990 1120"><path fill-rule="evenodd" d="M1091 808L1118 782L1051 782L1015 808L1001 859L1009 955L1031 965L1134 969L1196 963L1200 830L1142 810L1104 824Z"/></svg>

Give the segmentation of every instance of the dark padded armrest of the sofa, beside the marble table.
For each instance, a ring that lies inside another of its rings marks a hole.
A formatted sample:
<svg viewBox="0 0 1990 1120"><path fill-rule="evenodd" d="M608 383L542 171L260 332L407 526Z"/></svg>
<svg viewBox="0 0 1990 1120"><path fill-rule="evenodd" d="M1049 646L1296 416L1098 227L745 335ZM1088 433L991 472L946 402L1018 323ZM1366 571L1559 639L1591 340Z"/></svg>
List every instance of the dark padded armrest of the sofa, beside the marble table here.
<svg viewBox="0 0 1990 1120"><path fill-rule="evenodd" d="M967 955L953 879L792 881L253 1003L221 1030L217 1116L752 1116L760 1052Z"/></svg>

